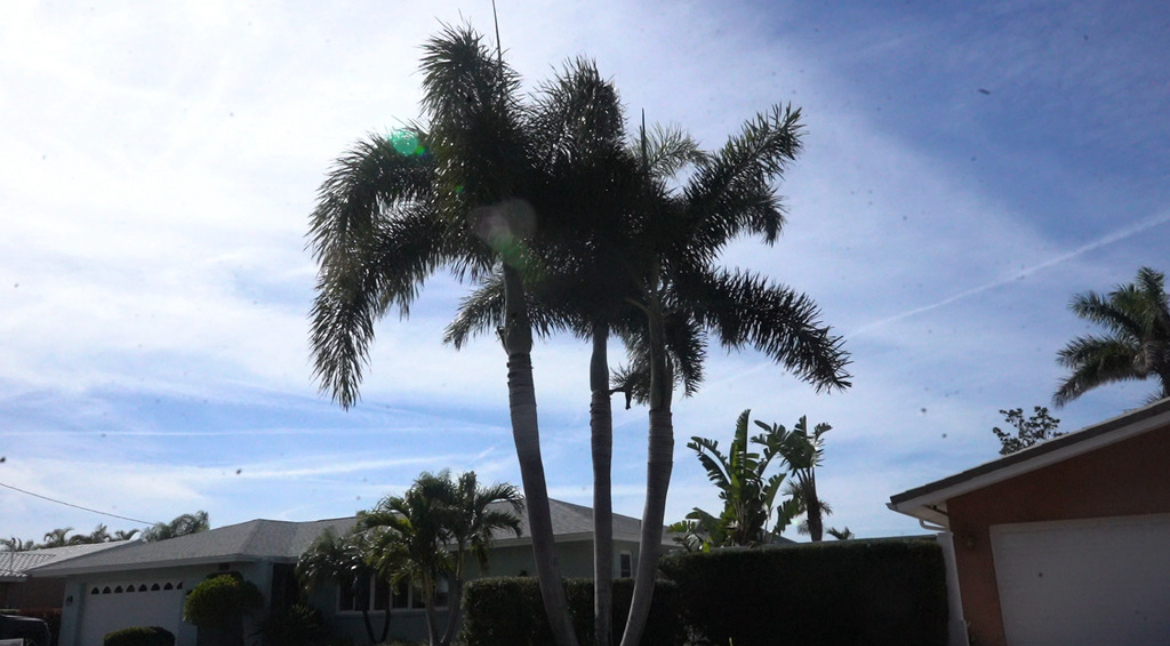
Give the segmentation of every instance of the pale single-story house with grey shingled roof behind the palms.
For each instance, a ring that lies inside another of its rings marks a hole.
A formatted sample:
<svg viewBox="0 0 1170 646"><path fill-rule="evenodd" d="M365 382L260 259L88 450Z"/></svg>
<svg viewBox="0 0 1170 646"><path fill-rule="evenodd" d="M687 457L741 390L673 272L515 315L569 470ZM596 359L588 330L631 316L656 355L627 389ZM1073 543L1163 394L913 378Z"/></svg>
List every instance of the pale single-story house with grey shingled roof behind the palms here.
<svg viewBox="0 0 1170 646"><path fill-rule="evenodd" d="M593 571L593 513L587 507L551 501L552 527L562 573L591 577ZM534 575L535 562L526 514L521 514L522 536L501 534L493 545L489 570L470 564L469 578ZM197 628L183 621L186 595L204 579L235 572L263 593L266 610L285 607L298 595L295 565L301 554L326 529L338 534L356 518L312 522L256 520L180 536L156 543L135 542L117 549L30 571L34 578L64 582L60 646L92 646L113 630L163 626L176 634L177 646L194 646ZM614 515L614 576L631 576L636 565L638 518ZM371 580L372 595L328 587L315 591L309 603L322 611L335 637L366 641L360 599L367 599L373 623L380 625L391 610L391 637L426 638L421 599L414 591L392 593ZM440 617L440 620L445 620Z"/></svg>

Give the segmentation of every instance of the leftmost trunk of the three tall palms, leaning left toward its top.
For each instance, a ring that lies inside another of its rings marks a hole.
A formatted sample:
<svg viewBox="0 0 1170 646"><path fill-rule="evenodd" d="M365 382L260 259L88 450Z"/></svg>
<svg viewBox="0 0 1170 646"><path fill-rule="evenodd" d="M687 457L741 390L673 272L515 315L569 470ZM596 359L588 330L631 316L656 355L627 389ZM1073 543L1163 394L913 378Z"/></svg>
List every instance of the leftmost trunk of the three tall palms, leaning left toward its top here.
<svg viewBox="0 0 1170 646"><path fill-rule="evenodd" d="M508 404L511 411L512 440L524 486L524 507L532 532L532 556L541 584L544 612L549 616L557 646L577 646L560 565L552 537L549 489L541 459L541 431L536 417L536 389L532 384L532 328L524 304L519 272L504 266L504 349L508 351Z"/></svg>

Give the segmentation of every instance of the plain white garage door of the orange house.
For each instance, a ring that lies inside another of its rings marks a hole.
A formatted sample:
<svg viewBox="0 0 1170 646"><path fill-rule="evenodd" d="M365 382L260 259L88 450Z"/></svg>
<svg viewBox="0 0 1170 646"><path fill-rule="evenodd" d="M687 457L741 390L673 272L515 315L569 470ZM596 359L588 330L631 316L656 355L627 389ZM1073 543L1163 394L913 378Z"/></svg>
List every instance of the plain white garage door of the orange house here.
<svg viewBox="0 0 1170 646"><path fill-rule="evenodd" d="M993 525L1011 646L1170 646L1170 516Z"/></svg>

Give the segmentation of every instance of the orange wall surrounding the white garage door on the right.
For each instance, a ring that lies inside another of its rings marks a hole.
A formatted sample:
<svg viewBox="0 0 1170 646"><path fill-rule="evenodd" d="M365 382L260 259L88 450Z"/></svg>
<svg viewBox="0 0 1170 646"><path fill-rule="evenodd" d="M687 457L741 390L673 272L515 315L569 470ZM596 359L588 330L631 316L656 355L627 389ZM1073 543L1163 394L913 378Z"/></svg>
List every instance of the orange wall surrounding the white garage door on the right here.
<svg viewBox="0 0 1170 646"><path fill-rule="evenodd" d="M977 646L1005 646L993 524L1170 513L1170 426L947 501L963 614Z"/></svg>

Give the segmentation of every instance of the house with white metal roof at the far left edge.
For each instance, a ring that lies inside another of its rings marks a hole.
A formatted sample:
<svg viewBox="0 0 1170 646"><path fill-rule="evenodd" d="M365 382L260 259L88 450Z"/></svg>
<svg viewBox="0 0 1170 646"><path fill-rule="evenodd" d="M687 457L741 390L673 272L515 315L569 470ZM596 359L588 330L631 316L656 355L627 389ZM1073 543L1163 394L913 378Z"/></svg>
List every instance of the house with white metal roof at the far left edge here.
<svg viewBox="0 0 1170 646"><path fill-rule="evenodd" d="M124 543L126 541L0 552L0 610L44 611L61 607L64 582L32 578L28 572L41 565L64 563Z"/></svg>

